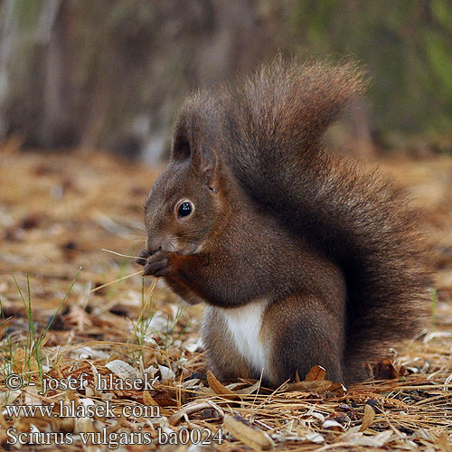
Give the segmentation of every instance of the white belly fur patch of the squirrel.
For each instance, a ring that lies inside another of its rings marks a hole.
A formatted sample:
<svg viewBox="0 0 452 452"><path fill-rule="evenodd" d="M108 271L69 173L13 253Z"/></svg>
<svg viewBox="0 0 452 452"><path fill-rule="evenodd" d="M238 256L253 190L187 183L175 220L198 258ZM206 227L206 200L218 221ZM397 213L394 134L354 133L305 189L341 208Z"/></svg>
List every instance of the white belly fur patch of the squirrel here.
<svg viewBox="0 0 452 452"><path fill-rule="evenodd" d="M240 307L218 308L237 351L258 372L267 366L268 347L260 337L267 305L267 300L258 299Z"/></svg>

